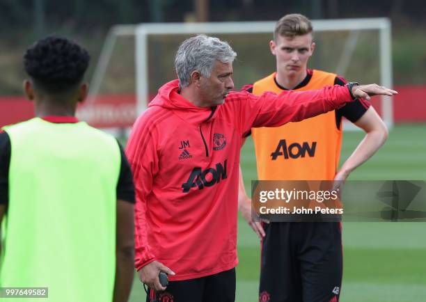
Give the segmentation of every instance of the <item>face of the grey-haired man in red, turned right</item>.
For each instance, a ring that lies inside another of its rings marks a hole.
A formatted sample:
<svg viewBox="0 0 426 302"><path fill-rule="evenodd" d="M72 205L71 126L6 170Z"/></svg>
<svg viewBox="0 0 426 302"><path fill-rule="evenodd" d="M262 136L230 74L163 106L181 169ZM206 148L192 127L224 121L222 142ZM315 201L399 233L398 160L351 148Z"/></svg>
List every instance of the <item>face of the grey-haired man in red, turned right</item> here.
<svg viewBox="0 0 426 302"><path fill-rule="evenodd" d="M200 78L200 96L205 106L223 104L226 94L234 88L232 63L216 61L209 78Z"/></svg>

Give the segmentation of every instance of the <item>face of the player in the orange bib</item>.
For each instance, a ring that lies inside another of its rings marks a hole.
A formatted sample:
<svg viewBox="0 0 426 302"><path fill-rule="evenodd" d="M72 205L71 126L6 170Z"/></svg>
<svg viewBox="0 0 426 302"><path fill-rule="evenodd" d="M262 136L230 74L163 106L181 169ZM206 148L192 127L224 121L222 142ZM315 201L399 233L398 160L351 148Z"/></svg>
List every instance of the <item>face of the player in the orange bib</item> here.
<svg viewBox="0 0 426 302"><path fill-rule="evenodd" d="M291 77L306 70L308 59L315 49L315 43L310 33L296 35L294 38L278 35L276 41L269 42L269 47L276 57L278 72Z"/></svg>

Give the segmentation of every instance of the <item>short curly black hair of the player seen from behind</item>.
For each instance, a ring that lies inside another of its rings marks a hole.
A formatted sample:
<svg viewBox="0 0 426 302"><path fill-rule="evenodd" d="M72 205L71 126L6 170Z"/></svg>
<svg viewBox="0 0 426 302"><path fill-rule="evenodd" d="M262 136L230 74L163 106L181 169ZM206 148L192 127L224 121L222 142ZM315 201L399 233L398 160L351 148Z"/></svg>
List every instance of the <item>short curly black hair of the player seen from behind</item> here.
<svg viewBox="0 0 426 302"><path fill-rule="evenodd" d="M56 35L38 40L24 54L25 71L36 86L55 92L77 86L89 61L86 49Z"/></svg>

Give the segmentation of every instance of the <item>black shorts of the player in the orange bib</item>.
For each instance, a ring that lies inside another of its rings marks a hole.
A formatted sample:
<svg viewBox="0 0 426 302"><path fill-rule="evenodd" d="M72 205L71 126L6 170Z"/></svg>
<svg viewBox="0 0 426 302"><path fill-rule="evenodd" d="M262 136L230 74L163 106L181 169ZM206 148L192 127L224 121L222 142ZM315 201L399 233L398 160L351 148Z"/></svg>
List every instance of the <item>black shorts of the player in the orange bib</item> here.
<svg viewBox="0 0 426 302"><path fill-rule="evenodd" d="M340 223L264 224L260 302L338 302L342 285Z"/></svg>

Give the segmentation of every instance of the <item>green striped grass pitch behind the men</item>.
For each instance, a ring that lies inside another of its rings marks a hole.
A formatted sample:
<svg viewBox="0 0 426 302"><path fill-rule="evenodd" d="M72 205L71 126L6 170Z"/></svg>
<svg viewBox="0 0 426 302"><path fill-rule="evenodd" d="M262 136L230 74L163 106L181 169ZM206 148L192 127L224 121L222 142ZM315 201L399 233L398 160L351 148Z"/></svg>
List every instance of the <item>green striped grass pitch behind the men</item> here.
<svg viewBox="0 0 426 302"><path fill-rule="evenodd" d="M363 137L345 132L344 161ZM242 150L242 169L249 191L256 179L253 143ZM350 180L426 180L426 125L399 125L377 154ZM344 223L342 302L425 302L426 223ZM258 301L260 245L239 219L237 301ZM130 301L145 301L137 278Z"/></svg>

